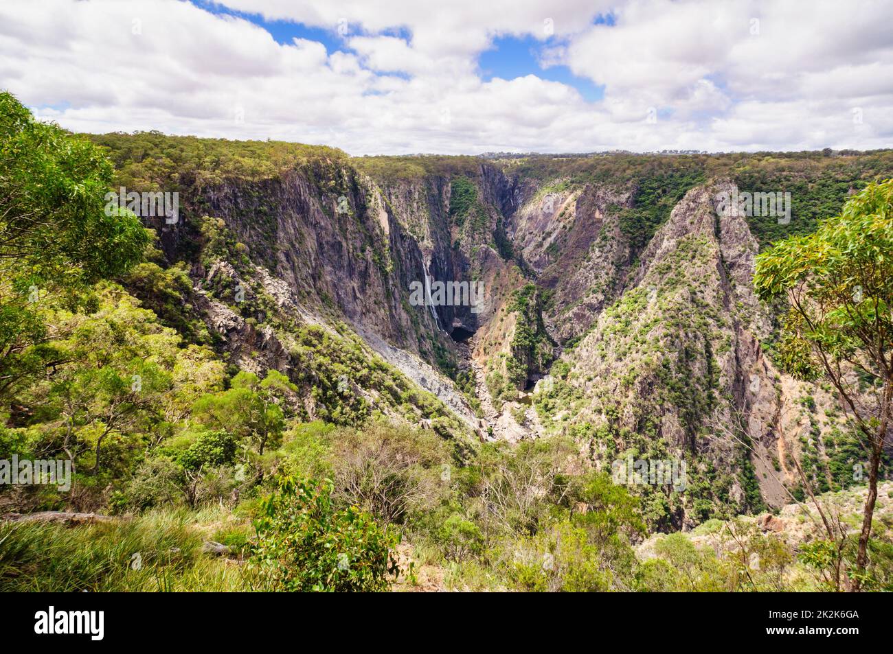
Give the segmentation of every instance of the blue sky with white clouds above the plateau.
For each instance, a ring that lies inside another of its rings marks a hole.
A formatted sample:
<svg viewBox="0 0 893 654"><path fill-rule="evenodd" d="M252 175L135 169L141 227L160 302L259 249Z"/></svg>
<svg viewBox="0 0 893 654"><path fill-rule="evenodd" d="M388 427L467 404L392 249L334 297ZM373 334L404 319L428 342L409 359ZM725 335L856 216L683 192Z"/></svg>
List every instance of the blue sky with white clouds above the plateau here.
<svg viewBox="0 0 893 654"><path fill-rule="evenodd" d="M893 146L889 0L3 0L0 89L79 132L347 153Z"/></svg>

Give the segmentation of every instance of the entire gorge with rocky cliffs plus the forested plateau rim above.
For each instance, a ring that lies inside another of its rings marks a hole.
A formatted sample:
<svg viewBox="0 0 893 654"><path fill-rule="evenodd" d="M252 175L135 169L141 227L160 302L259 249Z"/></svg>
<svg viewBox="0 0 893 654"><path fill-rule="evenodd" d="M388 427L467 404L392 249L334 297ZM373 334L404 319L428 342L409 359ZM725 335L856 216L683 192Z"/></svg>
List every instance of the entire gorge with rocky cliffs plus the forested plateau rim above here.
<svg viewBox="0 0 893 654"><path fill-rule="evenodd" d="M571 435L600 468L628 454L684 459L686 493L639 489L666 528L788 501L795 462L822 490L847 484L839 408L773 367L772 311L751 288L755 253L779 230L718 215L716 196L735 190L729 178L791 184L803 196L789 231L804 231L812 198L842 202L889 156L350 159L96 140L121 184L179 191L179 222L146 222L162 265L188 270L191 318L238 366L321 389L311 417L379 410L450 438ZM438 284L480 292L435 300ZM363 372L382 365L396 391ZM346 389L355 399L338 399Z"/></svg>

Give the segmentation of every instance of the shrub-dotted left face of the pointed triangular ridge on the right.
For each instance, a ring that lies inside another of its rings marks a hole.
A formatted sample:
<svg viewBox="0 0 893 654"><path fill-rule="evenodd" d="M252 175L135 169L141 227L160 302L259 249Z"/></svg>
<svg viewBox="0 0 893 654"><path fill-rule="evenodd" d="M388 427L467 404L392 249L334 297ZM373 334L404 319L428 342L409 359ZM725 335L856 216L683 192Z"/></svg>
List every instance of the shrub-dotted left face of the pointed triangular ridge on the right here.
<svg viewBox="0 0 893 654"><path fill-rule="evenodd" d="M701 427L739 366L711 196L693 189L676 206L573 364L595 401L590 409L613 408L620 427L642 433L650 424L656 437L692 452L705 450Z"/></svg>

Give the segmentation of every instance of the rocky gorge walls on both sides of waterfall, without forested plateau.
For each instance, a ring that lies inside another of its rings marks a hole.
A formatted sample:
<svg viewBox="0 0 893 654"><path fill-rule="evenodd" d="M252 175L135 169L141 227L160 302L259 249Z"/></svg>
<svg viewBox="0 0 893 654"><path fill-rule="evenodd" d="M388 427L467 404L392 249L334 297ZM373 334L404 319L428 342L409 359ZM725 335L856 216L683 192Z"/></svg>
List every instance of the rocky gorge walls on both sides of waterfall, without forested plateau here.
<svg viewBox="0 0 893 654"><path fill-rule="evenodd" d="M243 368L300 377L294 329L316 325L358 337L478 439L566 435L599 468L686 461L687 493L643 490L672 526L779 506L795 460L828 458L843 428L834 399L764 351L757 241L746 219L717 212L731 182L680 194L644 240L630 235L636 190L486 161L405 178L316 163L181 200L187 219L163 245L191 263L196 308ZM430 302L439 283L477 285L475 305ZM364 378L351 383L374 406L380 389Z"/></svg>

